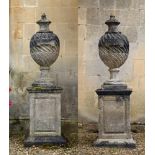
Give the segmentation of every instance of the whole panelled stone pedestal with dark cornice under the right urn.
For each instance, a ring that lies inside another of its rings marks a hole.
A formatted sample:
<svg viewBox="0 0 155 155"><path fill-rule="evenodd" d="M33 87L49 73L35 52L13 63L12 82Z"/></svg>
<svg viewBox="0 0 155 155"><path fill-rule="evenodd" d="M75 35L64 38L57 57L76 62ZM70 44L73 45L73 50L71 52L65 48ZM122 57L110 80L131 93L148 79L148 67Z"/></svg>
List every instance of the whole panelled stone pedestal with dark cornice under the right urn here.
<svg viewBox="0 0 155 155"><path fill-rule="evenodd" d="M95 146L135 147L130 126L130 94L126 85L105 85L97 89L99 122Z"/></svg>

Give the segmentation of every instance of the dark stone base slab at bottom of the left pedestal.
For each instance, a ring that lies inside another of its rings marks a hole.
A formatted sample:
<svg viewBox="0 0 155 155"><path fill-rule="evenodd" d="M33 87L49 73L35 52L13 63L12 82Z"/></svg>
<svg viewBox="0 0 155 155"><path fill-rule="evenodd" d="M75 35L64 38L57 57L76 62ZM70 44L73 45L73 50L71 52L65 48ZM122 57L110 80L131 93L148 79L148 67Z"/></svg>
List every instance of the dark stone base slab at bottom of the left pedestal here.
<svg viewBox="0 0 155 155"><path fill-rule="evenodd" d="M37 136L37 137L28 137L25 142L25 147L31 147L33 145L61 145L64 146L67 141L62 136Z"/></svg>

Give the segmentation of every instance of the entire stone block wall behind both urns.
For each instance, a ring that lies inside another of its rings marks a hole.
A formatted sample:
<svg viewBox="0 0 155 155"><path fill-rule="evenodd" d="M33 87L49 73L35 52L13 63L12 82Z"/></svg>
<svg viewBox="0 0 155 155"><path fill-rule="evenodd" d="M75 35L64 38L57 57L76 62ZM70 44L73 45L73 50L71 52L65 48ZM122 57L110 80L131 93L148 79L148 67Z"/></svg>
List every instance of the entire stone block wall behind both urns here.
<svg viewBox="0 0 155 155"><path fill-rule="evenodd" d="M10 119L28 118L26 88L40 74L30 56L29 42L43 12L61 42L51 76L64 88L63 118L76 119L78 104L79 118L98 119L95 90L109 78L98 55L98 41L107 30L104 22L113 13L130 41L120 78L133 89L132 121L144 122L144 0L10 0Z"/></svg>

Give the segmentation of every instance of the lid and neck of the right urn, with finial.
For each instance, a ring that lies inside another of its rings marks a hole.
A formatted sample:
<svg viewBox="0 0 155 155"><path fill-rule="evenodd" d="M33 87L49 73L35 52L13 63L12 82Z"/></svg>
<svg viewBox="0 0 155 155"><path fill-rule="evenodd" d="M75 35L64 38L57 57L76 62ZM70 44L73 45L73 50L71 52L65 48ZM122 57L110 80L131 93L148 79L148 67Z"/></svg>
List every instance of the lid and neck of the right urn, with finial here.
<svg viewBox="0 0 155 155"><path fill-rule="evenodd" d="M118 25L120 22L115 19L114 15L110 15L110 19L105 22L108 25L108 32L118 32Z"/></svg>

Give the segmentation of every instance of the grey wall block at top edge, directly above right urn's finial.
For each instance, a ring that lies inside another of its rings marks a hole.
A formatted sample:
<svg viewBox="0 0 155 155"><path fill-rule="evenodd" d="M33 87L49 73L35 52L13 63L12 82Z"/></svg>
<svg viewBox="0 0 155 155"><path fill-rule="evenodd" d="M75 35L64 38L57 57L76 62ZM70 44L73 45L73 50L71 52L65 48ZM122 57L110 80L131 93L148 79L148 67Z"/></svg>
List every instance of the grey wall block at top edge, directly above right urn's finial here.
<svg viewBox="0 0 155 155"><path fill-rule="evenodd" d="M105 9L114 9L115 2L115 0L100 0L100 7Z"/></svg>

